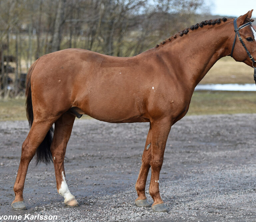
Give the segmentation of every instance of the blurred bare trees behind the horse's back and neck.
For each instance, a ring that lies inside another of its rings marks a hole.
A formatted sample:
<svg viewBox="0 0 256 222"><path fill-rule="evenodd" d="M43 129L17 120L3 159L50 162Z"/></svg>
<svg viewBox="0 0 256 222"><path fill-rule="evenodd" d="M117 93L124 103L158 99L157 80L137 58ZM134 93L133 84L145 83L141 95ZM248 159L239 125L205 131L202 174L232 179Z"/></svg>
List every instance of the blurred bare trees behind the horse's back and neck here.
<svg viewBox="0 0 256 222"><path fill-rule="evenodd" d="M1 0L0 95L24 94L40 56L82 48L134 56L210 19L203 0Z"/></svg>

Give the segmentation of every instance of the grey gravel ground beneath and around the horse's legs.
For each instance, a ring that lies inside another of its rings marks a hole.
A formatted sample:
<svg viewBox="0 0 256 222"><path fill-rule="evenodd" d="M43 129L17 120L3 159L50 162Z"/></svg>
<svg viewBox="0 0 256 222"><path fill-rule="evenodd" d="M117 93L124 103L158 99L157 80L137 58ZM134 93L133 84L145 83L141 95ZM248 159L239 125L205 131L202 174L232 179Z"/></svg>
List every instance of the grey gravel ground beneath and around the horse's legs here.
<svg viewBox="0 0 256 222"><path fill-rule="evenodd" d="M172 127L159 182L167 213L134 203L149 123L97 120L75 121L66 152L67 183L80 206L64 205L57 194L53 164L35 166L32 160L24 188L28 209L12 210L28 123L0 122L0 216L57 215L57 221L256 221L255 119L256 114L187 116ZM149 180L146 195L153 203Z"/></svg>

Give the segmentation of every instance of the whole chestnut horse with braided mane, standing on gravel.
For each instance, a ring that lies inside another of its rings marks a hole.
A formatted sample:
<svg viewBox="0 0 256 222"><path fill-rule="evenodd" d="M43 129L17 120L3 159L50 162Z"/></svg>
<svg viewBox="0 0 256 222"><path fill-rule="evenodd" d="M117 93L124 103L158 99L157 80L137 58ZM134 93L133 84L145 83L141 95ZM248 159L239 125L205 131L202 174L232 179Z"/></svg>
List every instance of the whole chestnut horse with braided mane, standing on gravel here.
<svg viewBox="0 0 256 222"><path fill-rule="evenodd" d="M252 10L237 18L237 26L252 21L251 15ZM106 122L150 122L135 203L150 206L145 185L151 167L152 209L167 211L159 193L159 174L168 134L187 113L196 85L217 60L231 54L233 22L226 18L201 22L129 58L65 49L36 60L27 76L26 107L31 129L22 144L13 209L26 208L24 182L35 154L37 161L53 161L57 190L64 203L78 205L66 183L64 156L75 117L87 114ZM256 57L252 26L241 29L240 35ZM236 61L253 67L238 38L232 52Z"/></svg>

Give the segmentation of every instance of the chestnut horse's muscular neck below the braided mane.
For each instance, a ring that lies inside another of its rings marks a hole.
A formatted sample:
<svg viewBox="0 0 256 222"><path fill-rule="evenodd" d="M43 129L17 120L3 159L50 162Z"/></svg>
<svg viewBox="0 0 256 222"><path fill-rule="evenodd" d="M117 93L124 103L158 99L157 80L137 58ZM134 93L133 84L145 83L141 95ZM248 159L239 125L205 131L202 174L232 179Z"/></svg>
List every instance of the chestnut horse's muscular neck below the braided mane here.
<svg viewBox="0 0 256 222"><path fill-rule="evenodd" d="M211 67L230 53L225 46L232 27L225 23L190 30L187 35L159 46L160 54L165 61L169 60L171 69L188 81L193 90Z"/></svg>

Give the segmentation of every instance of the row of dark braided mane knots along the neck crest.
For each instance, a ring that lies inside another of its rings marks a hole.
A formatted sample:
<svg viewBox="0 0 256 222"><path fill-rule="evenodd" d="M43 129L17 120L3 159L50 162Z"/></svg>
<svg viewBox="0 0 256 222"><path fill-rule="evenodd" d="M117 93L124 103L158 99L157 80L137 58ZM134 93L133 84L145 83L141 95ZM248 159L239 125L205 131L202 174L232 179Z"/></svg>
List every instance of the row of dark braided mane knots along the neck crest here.
<svg viewBox="0 0 256 222"><path fill-rule="evenodd" d="M198 29L199 27L204 27L206 25L215 25L218 23L221 23L221 21L226 22L227 18L218 18L218 19L210 19L210 20L205 20L203 22L197 23L195 25L190 26L189 28L184 29L183 31L179 32L178 35L179 36L183 36L184 34L188 34L189 29L190 30L194 30L194 29ZM166 42L170 42L172 39L176 39L177 38L177 34L167 38L166 40L164 40L163 42L161 42L159 45L164 45ZM159 45L157 44L155 47L159 47Z"/></svg>

